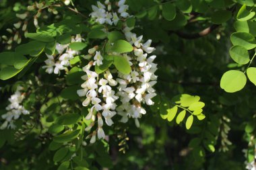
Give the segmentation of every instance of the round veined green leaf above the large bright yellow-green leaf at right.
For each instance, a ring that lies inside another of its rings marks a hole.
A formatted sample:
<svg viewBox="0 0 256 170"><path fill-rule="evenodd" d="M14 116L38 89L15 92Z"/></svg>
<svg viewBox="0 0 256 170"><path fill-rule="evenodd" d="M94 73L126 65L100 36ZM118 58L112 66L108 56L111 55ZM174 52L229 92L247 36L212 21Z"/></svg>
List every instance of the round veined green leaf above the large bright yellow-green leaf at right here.
<svg viewBox="0 0 256 170"><path fill-rule="evenodd" d="M231 58L240 65L246 65L250 61L248 50L243 46L232 46L229 50Z"/></svg>

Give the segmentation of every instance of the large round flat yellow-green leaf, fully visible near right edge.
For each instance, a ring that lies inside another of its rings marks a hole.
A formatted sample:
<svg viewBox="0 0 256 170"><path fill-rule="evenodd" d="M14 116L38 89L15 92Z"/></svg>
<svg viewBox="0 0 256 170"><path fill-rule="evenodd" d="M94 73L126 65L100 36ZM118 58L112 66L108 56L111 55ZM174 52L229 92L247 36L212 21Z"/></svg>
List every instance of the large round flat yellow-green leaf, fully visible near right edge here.
<svg viewBox="0 0 256 170"><path fill-rule="evenodd" d="M227 71L220 80L220 87L228 93L234 93L240 91L245 87L247 78L245 73L241 71Z"/></svg>

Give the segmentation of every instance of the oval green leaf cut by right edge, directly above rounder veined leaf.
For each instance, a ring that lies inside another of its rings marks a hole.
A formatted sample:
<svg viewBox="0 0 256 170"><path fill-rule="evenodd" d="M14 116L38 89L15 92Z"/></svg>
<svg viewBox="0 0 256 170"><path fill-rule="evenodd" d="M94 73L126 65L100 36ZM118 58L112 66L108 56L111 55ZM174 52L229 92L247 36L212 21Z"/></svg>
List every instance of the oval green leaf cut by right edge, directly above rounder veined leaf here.
<svg viewBox="0 0 256 170"><path fill-rule="evenodd" d="M230 39L234 46L243 46L247 50L251 50L256 47L255 38L247 32L234 32L231 34Z"/></svg>

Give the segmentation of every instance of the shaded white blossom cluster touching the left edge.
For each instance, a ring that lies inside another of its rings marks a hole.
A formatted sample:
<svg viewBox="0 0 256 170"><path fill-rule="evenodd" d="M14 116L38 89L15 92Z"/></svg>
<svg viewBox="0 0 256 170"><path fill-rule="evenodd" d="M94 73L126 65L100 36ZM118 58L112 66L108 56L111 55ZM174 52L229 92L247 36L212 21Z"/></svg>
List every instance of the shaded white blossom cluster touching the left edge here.
<svg viewBox="0 0 256 170"><path fill-rule="evenodd" d="M22 105L22 101L25 96L22 94L20 90L22 90L22 87L20 86L17 87L17 91L15 91L15 93L11 95L11 97L9 97L10 103L5 108L7 110L7 113L1 116L1 118L3 118L5 122L3 122L3 124L0 126L0 129L5 129L5 128L14 129L15 120L20 118L22 114L24 115L30 114L30 112L28 112L28 110L26 110Z"/></svg>

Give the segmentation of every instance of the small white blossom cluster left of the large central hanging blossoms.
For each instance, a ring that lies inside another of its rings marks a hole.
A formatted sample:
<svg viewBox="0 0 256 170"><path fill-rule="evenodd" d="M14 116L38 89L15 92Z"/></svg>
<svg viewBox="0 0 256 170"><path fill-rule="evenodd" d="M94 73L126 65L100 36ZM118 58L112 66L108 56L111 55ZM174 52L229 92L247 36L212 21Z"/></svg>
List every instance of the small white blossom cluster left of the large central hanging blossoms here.
<svg viewBox="0 0 256 170"><path fill-rule="evenodd" d="M80 35L77 35L75 38L72 38L71 42L82 42L82 38ZM69 67L69 60L73 59L79 52L71 50L69 44L61 45L59 43L56 44L56 50L59 58L55 60L55 55L46 54L47 59L44 61L46 65L43 66L42 69L46 69L46 73L59 75L61 70L65 70Z"/></svg>

